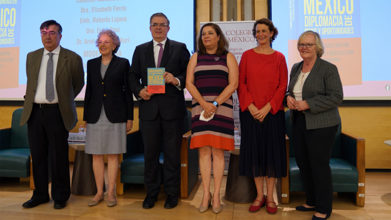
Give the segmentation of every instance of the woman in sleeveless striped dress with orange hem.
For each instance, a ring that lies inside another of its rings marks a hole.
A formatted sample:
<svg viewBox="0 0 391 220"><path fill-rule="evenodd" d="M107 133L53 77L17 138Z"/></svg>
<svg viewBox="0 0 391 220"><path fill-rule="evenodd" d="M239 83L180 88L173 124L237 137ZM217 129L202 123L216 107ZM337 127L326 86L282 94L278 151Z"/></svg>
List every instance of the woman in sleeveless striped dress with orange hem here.
<svg viewBox="0 0 391 220"><path fill-rule="evenodd" d="M224 152L234 149L232 94L238 87L238 77L238 63L234 55L228 52L228 41L219 26L214 23L203 25L197 53L191 57L186 75L186 88L193 97L190 148L198 148L200 151L204 186L200 212L207 211L212 200L212 211L221 211L219 190L225 167ZM215 189L213 197L209 191L211 155Z"/></svg>

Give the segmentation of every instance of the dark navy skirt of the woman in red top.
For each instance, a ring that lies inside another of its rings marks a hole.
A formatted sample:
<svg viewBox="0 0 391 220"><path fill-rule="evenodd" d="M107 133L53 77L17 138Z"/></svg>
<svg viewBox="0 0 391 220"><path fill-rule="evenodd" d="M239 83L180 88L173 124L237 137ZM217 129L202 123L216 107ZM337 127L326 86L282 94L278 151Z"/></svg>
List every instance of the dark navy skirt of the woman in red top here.
<svg viewBox="0 0 391 220"><path fill-rule="evenodd" d="M239 175L248 177L287 176L285 113L269 113L268 121L257 124L249 111L239 110L241 141Z"/></svg>

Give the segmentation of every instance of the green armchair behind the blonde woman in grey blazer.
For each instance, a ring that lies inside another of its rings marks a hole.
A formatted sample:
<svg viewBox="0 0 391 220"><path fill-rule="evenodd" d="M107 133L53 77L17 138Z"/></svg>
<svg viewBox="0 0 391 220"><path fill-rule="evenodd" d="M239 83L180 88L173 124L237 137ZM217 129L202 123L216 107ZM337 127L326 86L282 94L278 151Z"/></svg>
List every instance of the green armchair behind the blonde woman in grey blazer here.
<svg viewBox="0 0 391 220"><path fill-rule="evenodd" d="M277 194L282 204L289 204L290 191L304 191L292 143L290 110L285 113L287 177L277 180ZM365 205L365 140L341 131L338 127L330 159L332 188L334 192L346 192L356 206Z"/></svg>

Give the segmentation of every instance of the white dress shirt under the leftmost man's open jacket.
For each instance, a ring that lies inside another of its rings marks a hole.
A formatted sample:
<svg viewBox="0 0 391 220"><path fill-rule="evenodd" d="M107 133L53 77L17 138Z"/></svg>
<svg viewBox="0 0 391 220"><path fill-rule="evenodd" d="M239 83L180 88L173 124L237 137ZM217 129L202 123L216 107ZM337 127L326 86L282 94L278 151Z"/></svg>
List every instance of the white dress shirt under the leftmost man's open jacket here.
<svg viewBox="0 0 391 220"><path fill-rule="evenodd" d="M57 90L55 88L55 73L57 71L57 63L59 61L59 54L60 54L61 46L59 45L57 48L55 48L53 51L51 51L53 54L53 85L54 85L54 99L53 101L49 102L46 99L46 68L47 68L47 61L49 60L49 51L44 49L43 55L41 59L41 67L39 68L38 73L38 82L37 82L37 88L34 96L34 103L59 103L59 97L57 96Z"/></svg>

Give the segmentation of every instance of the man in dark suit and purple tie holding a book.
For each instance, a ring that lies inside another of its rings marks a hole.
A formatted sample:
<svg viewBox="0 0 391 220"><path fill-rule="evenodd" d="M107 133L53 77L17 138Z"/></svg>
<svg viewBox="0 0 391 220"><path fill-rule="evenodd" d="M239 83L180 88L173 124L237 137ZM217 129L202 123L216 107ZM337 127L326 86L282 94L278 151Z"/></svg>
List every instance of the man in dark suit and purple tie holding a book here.
<svg viewBox="0 0 391 220"><path fill-rule="evenodd" d="M180 146L183 120L187 115L183 90L190 54L185 44L167 38L170 21L163 13L151 16L149 29L153 40L136 47L129 70L129 85L139 100L138 118L145 145L144 180L148 193L143 208L155 205L161 182L168 195L164 208L174 208L178 205L181 180ZM154 67L165 68L163 94L151 94L145 88L148 86L147 68ZM163 180L159 170L161 146L164 154Z"/></svg>

